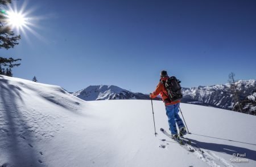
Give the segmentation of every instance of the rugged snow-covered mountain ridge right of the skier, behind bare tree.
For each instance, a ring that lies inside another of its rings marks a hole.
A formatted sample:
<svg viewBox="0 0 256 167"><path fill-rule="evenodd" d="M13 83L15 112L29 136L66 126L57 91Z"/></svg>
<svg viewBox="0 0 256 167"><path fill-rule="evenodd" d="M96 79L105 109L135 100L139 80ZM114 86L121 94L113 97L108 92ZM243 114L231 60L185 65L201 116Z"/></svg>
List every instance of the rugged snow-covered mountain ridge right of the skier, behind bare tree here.
<svg viewBox="0 0 256 167"><path fill-rule="evenodd" d="M238 80L236 85L238 90L241 92L241 99L245 99L246 96L251 95L251 93L255 90L256 81ZM229 83L183 88L183 102L231 109L234 104L232 103L232 95L230 94L229 88Z"/></svg>

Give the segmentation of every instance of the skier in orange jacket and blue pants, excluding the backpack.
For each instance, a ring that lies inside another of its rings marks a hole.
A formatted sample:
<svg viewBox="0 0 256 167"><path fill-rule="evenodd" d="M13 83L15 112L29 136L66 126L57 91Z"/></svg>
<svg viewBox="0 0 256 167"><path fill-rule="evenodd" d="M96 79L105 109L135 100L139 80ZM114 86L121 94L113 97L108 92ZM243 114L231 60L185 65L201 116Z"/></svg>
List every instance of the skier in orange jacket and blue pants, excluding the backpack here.
<svg viewBox="0 0 256 167"><path fill-rule="evenodd" d="M185 129L184 123L182 119L180 119L180 116L178 114L180 100L171 101L168 97L166 88L164 87L164 82L166 82L168 78L169 76L167 75L167 71L164 71L164 70L161 71L160 82L157 85L155 91L153 93L150 93L150 98L154 99L156 96L160 94L166 106L166 115L168 117L168 123L170 126L171 135L173 138L179 138L179 135L177 134L176 123L179 126L180 136L187 134L187 130Z"/></svg>

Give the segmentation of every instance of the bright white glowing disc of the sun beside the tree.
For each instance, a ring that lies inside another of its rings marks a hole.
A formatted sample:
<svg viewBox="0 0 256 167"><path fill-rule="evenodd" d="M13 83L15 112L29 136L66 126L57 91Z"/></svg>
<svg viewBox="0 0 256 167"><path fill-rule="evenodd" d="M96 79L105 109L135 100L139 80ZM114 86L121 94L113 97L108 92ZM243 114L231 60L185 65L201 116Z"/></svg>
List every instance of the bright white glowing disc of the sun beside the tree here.
<svg viewBox="0 0 256 167"><path fill-rule="evenodd" d="M22 28L24 26L26 26L26 18L22 13L18 13L18 12L7 12L7 22L9 25L11 25L11 27L14 28Z"/></svg>

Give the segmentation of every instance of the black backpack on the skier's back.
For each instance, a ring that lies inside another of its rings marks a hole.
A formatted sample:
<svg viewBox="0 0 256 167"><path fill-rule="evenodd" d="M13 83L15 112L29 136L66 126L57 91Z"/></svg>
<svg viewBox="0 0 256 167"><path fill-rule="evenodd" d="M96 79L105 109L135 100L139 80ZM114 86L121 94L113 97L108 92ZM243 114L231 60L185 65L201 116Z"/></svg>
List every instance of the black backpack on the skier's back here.
<svg viewBox="0 0 256 167"><path fill-rule="evenodd" d="M182 92L181 92L181 81L176 79L175 76L172 76L166 80L166 82L163 82L164 88L166 88L166 91L168 93L168 97L171 101L177 101L182 99Z"/></svg>

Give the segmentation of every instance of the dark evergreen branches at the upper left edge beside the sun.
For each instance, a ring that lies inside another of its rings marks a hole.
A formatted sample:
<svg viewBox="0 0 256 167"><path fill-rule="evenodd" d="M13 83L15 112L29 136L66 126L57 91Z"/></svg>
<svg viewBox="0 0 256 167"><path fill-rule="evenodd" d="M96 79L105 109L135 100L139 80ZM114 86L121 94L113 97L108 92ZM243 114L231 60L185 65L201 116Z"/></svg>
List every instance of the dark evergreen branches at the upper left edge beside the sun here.
<svg viewBox="0 0 256 167"><path fill-rule="evenodd" d="M0 0L0 7L6 6L11 3L11 0ZM7 18L5 10L0 11L0 49L10 49L18 45L20 40L20 35L16 36L11 28L7 25ZM19 66L20 63L14 63L20 61L21 59L4 58L0 55L0 65L9 66L10 68L14 66Z"/></svg>

